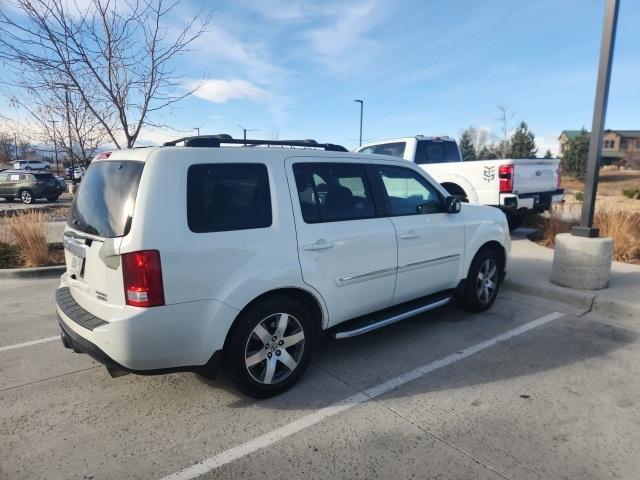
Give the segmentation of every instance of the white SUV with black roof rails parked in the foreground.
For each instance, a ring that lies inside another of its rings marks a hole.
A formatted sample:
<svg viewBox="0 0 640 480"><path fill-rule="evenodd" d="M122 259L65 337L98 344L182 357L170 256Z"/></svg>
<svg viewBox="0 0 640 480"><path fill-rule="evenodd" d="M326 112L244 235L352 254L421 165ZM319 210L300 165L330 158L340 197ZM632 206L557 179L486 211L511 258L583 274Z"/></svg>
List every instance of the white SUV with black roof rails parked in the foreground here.
<svg viewBox="0 0 640 480"><path fill-rule="evenodd" d="M64 245L66 347L114 376L222 362L268 397L323 331L352 337L454 298L489 308L510 237L502 212L461 205L405 160L210 136L94 161Z"/></svg>

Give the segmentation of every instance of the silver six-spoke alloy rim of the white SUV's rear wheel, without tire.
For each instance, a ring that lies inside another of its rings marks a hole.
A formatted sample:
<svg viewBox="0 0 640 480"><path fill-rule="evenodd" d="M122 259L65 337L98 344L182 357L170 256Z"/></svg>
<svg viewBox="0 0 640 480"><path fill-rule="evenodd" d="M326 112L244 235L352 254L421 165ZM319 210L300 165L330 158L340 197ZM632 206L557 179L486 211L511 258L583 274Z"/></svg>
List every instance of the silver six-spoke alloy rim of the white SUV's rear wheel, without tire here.
<svg viewBox="0 0 640 480"><path fill-rule="evenodd" d="M245 366L263 384L283 381L296 369L304 351L304 330L293 315L275 313L254 327L245 346Z"/></svg>

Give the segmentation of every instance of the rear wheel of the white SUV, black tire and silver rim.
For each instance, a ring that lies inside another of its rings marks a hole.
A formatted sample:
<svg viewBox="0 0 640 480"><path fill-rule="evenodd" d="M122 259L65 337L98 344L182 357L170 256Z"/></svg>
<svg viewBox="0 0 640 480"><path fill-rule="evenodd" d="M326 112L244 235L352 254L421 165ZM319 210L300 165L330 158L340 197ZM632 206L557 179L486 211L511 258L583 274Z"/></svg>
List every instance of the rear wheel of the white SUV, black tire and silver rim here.
<svg viewBox="0 0 640 480"><path fill-rule="evenodd" d="M269 398L291 388L309 365L314 323L298 301L274 296L251 307L229 333L223 365L238 389Z"/></svg>

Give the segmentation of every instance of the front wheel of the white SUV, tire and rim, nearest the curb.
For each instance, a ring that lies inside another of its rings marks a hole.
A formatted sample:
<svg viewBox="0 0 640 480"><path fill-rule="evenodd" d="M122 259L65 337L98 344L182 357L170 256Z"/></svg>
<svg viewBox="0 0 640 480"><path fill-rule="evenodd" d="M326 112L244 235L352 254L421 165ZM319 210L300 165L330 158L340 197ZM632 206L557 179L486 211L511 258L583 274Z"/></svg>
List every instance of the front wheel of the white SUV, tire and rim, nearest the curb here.
<svg viewBox="0 0 640 480"><path fill-rule="evenodd" d="M469 267L469 273L460 298L462 306L472 312L487 310L496 299L500 289L499 255L490 248L482 248Z"/></svg>

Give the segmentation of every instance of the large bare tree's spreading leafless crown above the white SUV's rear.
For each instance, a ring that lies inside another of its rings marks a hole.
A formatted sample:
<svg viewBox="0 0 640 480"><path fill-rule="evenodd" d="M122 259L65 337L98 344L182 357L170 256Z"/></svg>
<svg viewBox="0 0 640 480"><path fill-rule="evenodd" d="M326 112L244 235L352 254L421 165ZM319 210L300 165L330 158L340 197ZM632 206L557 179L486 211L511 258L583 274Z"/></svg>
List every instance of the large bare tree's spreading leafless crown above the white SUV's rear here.
<svg viewBox="0 0 640 480"><path fill-rule="evenodd" d="M13 85L64 86L78 95L111 141L132 147L153 115L193 93L172 66L211 19L200 10L175 28L180 0L7 0L0 59Z"/></svg>

